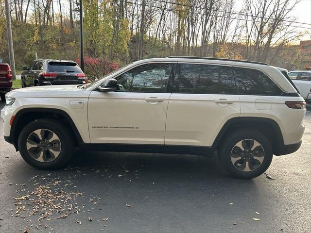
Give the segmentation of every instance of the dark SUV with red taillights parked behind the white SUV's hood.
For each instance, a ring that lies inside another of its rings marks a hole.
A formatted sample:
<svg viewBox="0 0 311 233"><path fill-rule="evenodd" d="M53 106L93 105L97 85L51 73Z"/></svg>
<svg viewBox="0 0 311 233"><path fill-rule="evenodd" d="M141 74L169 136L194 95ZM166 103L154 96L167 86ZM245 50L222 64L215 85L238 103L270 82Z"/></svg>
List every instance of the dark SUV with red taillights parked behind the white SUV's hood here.
<svg viewBox="0 0 311 233"><path fill-rule="evenodd" d="M38 59L23 70L22 87L87 83L85 74L73 61Z"/></svg>

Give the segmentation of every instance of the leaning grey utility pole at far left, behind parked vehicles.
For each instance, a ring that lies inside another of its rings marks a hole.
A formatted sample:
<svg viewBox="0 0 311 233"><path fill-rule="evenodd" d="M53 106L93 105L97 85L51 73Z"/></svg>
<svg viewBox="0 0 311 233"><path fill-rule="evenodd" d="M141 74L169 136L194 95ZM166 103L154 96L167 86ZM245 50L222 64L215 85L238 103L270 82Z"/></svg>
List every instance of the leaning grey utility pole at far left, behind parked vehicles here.
<svg viewBox="0 0 311 233"><path fill-rule="evenodd" d="M5 16L6 16L6 32L8 35L10 67L12 69L12 80L16 80L14 49L13 49L13 39L12 39L12 24L11 24L11 13L10 13L9 0L4 0L4 3L5 3Z"/></svg>

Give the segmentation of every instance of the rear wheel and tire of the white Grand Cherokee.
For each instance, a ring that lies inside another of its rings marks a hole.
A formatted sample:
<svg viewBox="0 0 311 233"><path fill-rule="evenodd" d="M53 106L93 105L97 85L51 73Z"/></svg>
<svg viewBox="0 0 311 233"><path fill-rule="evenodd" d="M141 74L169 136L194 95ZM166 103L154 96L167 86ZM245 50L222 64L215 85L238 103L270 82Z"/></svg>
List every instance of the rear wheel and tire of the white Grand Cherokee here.
<svg viewBox="0 0 311 233"><path fill-rule="evenodd" d="M230 133L219 149L221 165L231 176L240 179L251 179L264 173L272 157L271 143L256 130L241 129Z"/></svg>

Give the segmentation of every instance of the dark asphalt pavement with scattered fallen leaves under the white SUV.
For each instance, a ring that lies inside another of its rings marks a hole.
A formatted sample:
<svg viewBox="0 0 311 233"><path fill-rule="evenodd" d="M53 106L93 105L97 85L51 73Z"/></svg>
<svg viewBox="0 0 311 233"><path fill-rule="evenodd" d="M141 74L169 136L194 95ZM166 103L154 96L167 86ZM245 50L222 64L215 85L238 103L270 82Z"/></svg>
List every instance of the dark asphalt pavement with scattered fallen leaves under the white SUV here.
<svg viewBox="0 0 311 233"><path fill-rule="evenodd" d="M310 109L304 123L301 148L252 180L176 154L77 150L68 167L37 170L1 136L0 232L309 233Z"/></svg>

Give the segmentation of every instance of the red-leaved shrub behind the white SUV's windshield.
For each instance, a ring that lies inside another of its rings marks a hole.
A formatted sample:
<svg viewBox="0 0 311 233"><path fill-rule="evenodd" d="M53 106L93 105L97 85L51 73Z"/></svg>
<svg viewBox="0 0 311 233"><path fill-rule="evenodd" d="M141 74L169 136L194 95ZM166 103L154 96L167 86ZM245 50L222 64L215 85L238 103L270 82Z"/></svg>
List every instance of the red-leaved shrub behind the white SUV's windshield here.
<svg viewBox="0 0 311 233"><path fill-rule="evenodd" d="M79 65L80 59L75 60ZM106 74L109 74L111 71L114 71L119 68L119 64L104 60L100 58L84 57L84 73L88 80L94 82Z"/></svg>

